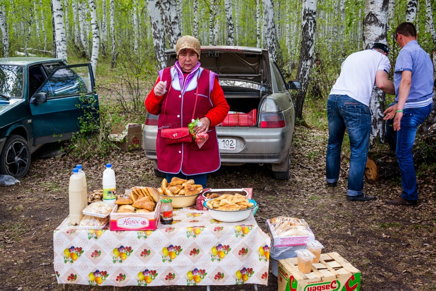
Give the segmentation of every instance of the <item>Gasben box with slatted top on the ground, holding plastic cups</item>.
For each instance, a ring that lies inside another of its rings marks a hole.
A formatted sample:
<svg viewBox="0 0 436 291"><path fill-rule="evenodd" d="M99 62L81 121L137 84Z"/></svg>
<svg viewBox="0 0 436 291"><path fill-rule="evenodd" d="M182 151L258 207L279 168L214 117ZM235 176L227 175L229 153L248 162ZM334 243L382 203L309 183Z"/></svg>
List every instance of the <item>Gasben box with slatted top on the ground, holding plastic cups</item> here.
<svg viewBox="0 0 436 291"><path fill-rule="evenodd" d="M359 291L360 271L338 253L321 254L311 273L298 270L297 258L279 260L279 291Z"/></svg>

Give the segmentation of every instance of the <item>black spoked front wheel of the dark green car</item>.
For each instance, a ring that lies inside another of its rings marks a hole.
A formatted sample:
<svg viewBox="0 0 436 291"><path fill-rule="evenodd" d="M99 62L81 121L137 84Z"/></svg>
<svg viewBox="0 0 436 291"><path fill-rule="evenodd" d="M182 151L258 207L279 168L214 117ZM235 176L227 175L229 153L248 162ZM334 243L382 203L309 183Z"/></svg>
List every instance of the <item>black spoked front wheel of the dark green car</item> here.
<svg viewBox="0 0 436 291"><path fill-rule="evenodd" d="M31 152L27 140L11 135L6 139L0 155L0 172L15 178L27 174L31 163Z"/></svg>

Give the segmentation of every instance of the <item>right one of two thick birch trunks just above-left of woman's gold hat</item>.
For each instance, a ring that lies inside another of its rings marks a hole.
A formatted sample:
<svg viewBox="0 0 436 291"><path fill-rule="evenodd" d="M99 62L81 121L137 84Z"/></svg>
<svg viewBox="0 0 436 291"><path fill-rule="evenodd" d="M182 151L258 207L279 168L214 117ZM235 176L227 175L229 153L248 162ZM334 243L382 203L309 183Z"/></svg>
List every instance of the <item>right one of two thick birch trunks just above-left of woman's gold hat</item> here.
<svg viewBox="0 0 436 291"><path fill-rule="evenodd" d="M179 18L175 0L161 0L161 13L165 34L171 48L175 47L177 40L182 36L179 28ZM156 15L159 16L159 15Z"/></svg>

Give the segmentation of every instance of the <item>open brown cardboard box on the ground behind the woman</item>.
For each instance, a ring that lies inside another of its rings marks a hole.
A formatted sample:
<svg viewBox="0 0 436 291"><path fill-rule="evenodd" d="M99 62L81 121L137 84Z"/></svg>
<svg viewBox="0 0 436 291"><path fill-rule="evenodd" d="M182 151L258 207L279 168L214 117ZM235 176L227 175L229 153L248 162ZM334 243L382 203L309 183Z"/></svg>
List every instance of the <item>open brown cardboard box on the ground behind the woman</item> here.
<svg viewBox="0 0 436 291"><path fill-rule="evenodd" d="M140 123L118 124L112 128L109 138L125 152L141 149L142 126Z"/></svg>

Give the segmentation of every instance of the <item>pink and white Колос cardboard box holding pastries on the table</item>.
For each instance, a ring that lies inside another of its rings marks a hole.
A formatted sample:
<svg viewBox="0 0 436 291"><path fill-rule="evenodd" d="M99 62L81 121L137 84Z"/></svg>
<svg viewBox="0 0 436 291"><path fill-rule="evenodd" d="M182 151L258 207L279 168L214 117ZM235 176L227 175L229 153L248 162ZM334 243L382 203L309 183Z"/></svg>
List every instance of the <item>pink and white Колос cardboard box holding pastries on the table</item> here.
<svg viewBox="0 0 436 291"><path fill-rule="evenodd" d="M160 200L156 203L155 212L150 213L116 213L115 205L110 213L110 230L156 230L160 219Z"/></svg>

